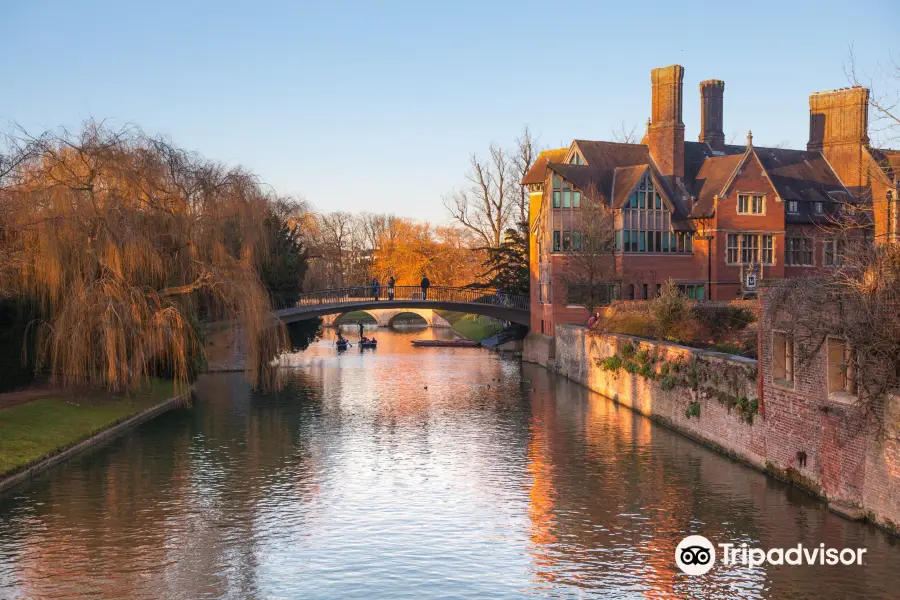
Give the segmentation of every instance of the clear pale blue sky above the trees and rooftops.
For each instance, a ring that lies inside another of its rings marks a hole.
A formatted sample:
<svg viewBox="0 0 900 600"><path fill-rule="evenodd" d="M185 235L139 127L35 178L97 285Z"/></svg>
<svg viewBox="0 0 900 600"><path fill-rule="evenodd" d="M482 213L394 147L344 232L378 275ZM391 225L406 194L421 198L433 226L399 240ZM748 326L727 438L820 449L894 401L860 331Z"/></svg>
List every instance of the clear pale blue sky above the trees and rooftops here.
<svg viewBox="0 0 900 600"><path fill-rule="evenodd" d="M726 137L804 147L848 46L870 69L900 51L900 3L849 6L0 0L0 129L135 123L323 210L442 222L469 153L525 124L544 145L641 130L672 63L687 139L718 78Z"/></svg>

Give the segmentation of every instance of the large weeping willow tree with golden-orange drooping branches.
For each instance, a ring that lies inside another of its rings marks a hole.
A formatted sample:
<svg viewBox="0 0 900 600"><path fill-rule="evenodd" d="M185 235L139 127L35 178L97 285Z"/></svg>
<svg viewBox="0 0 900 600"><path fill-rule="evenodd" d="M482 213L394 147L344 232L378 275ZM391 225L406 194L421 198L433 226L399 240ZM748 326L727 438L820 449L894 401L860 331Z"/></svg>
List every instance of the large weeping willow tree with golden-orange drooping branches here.
<svg viewBox="0 0 900 600"><path fill-rule="evenodd" d="M128 128L20 135L0 158L0 299L38 303L33 353L55 383L183 384L205 322L239 324L273 381L283 327L259 273L275 199L257 178Z"/></svg>

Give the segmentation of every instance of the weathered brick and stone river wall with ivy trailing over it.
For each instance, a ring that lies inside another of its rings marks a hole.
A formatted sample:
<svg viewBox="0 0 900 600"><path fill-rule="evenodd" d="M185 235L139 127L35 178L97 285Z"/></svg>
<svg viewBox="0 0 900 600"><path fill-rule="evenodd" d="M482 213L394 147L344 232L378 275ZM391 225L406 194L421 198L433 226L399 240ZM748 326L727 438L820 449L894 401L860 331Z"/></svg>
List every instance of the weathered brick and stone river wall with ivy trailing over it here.
<svg viewBox="0 0 900 600"><path fill-rule="evenodd" d="M526 338L523 360L799 485L846 516L894 530L900 523L900 444L809 397L760 397L757 361L570 325L558 326L552 342L542 338ZM890 410L900 419L896 405Z"/></svg>

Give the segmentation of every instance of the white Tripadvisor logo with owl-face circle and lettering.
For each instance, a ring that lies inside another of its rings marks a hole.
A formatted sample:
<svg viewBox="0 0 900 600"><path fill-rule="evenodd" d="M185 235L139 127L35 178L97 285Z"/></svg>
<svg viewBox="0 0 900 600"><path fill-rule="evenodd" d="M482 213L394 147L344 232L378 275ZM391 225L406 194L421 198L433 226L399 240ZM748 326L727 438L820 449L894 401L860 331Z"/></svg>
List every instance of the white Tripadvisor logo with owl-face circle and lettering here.
<svg viewBox="0 0 900 600"><path fill-rule="evenodd" d="M751 548L746 543L718 544L723 565L861 565L866 548L826 548L825 544L791 548ZM689 535L675 548L675 564L688 575L703 575L716 563L716 549L702 535Z"/></svg>

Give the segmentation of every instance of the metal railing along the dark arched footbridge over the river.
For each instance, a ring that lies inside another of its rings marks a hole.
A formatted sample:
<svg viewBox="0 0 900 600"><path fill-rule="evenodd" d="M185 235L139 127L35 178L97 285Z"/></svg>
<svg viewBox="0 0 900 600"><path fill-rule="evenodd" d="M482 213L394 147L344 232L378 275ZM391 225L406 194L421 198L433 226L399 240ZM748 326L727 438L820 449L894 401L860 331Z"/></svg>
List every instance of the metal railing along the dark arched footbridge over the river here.
<svg viewBox="0 0 900 600"><path fill-rule="evenodd" d="M529 298L524 294L508 294L502 290L472 287L431 286L423 290L418 285L394 286L393 294L387 286L373 290L371 286L354 286L320 290L302 294L292 306L326 306L331 304L367 303L374 300L415 300L423 302L455 302L461 304L488 304L528 310ZM287 308L281 307L278 308Z"/></svg>

